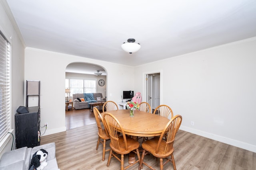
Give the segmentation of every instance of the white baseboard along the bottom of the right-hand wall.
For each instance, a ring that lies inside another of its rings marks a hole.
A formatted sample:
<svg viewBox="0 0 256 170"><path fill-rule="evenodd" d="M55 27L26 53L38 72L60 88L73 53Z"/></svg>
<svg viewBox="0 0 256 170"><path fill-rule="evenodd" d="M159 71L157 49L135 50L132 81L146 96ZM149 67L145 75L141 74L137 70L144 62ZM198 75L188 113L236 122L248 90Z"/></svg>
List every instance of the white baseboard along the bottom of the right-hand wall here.
<svg viewBox="0 0 256 170"><path fill-rule="evenodd" d="M252 152L256 152L256 145L252 145L252 144L249 144L249 143L244 143L242 141L237 141L237 140L234 140L234 139L230 139L230 138L227 138L227 137L222 137L222 136L215 135L215 134L212 134L212 133L207 133L205 131L200 131L200 130L193 129L193 128L186 127L186 126L182 126L182 125L180 126L180 129L182 131L187 131L187 132L190 132L190 133L202 136L202 137L206 137L206 138L209 138L209 139L213 139L215 141L226 143L228 145L232 145L232 146L239 147L239 148L242 148L242 149L246 149L246 150L249 150L249 151L252 151Z"/></svg>

